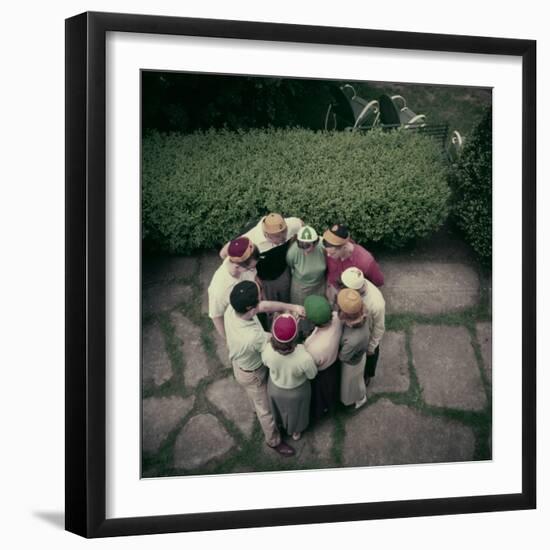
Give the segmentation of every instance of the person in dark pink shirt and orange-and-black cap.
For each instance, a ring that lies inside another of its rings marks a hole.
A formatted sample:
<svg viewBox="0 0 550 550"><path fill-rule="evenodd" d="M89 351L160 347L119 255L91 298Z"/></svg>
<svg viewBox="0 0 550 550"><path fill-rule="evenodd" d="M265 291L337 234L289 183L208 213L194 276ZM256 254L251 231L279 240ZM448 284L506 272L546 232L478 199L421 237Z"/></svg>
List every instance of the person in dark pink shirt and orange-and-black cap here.
<svg viewBox="0 0 550 550"><path fill-rule="evenodd" d="M335 224L323 234L323 246L327 257L327 298L334 304L340 290L339 281L348 267L360 269L377 287L384 284L384 275L374 256L350 238L348 228Z"/></svg>

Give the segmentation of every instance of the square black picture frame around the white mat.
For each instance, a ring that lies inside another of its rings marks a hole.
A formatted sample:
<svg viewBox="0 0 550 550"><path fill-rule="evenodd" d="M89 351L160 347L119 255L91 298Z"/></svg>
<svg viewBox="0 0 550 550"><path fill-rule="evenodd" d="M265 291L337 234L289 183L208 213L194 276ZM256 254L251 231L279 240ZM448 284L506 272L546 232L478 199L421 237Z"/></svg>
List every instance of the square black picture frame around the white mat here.
<svg viewBox="0 0 550 550"><path fill-rule="evenodd" d="M516 494L106 519L106 66L109 31L516 56L522 60L522 490ZM83 13L66 20L66 529L108 537L536 507L536 42Z"/></svg>

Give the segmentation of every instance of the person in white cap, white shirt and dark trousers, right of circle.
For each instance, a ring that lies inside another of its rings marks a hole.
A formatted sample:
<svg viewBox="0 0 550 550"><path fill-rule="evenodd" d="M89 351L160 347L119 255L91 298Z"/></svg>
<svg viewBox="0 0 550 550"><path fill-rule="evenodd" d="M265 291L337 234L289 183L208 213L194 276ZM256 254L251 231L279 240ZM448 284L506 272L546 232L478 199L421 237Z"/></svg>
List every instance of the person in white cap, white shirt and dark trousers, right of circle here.
<svg viewBox="0 0 550 550"><path fill-rule="evenodd" d="M376 365L380 355L380 342L386 330L386 302L380 289L366 279L362 271L349 267L341 276L342 285L357 290L363 299L367 310L367 322L370 330L367 348L367 364L365 366L365 384L368 386L376 374Z"/></svg>

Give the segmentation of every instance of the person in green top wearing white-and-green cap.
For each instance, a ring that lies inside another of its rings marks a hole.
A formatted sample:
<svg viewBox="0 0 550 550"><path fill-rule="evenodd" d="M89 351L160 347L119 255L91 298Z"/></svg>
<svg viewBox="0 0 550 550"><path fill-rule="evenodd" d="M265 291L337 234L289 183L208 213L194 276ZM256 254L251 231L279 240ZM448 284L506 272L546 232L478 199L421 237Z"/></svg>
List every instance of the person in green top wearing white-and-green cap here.
<svg viewBox="0 0 550 550"><path fill-rule="evenodd" d="M313 227L306 225L298 231L296 241L288 248L286 263L292 277L291 303L304 305L308 296L325 294L325 251Z"/></svg>

